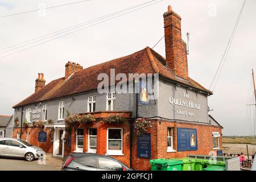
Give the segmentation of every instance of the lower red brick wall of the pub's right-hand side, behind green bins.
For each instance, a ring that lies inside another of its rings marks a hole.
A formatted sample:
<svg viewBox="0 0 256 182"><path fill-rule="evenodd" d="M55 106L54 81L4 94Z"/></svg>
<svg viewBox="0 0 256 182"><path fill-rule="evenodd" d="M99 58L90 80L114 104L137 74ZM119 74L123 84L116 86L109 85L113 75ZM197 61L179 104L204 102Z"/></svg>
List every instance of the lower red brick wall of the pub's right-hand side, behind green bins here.
<svg viewBox="0 0 256 182"><path fill-rule="evenodd" d="M173 144L174 150L177 151L177 127L188 129L197 129L197 151L167 152L167 127L174 127ZM188 154L208 155L213 150L212 132L217 131L221 134L221 127L200 125L185 122L166 122L152 121L152 128L148 133L151 134L151 159L159 158L181 158L187 157ZM135 133L135 131L133 131ZM150 160L138 158L137 155L137 135L133 135L133 168L137 170L150 170ZM220 148L222 148L220 138ZM216 150L215 150L216 151Z"/></svg>

